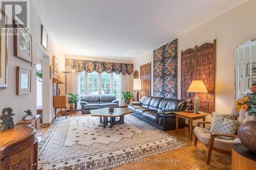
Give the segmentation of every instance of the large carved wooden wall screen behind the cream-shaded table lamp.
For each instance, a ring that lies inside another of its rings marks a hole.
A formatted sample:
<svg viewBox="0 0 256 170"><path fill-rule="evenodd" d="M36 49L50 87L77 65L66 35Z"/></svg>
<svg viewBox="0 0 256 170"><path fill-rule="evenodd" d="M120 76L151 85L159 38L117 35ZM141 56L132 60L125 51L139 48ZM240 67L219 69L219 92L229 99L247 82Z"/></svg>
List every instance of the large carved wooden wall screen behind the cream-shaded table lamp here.
<svg viewBox="0 0 256 170"><path fill-rule="evenodd" d="M204 112L214 111L215 56L216 40L181 51L181 99L194 99L195 93L187 89L193 80L203 80L208 93L198 95L199 110Z"/></svg>

